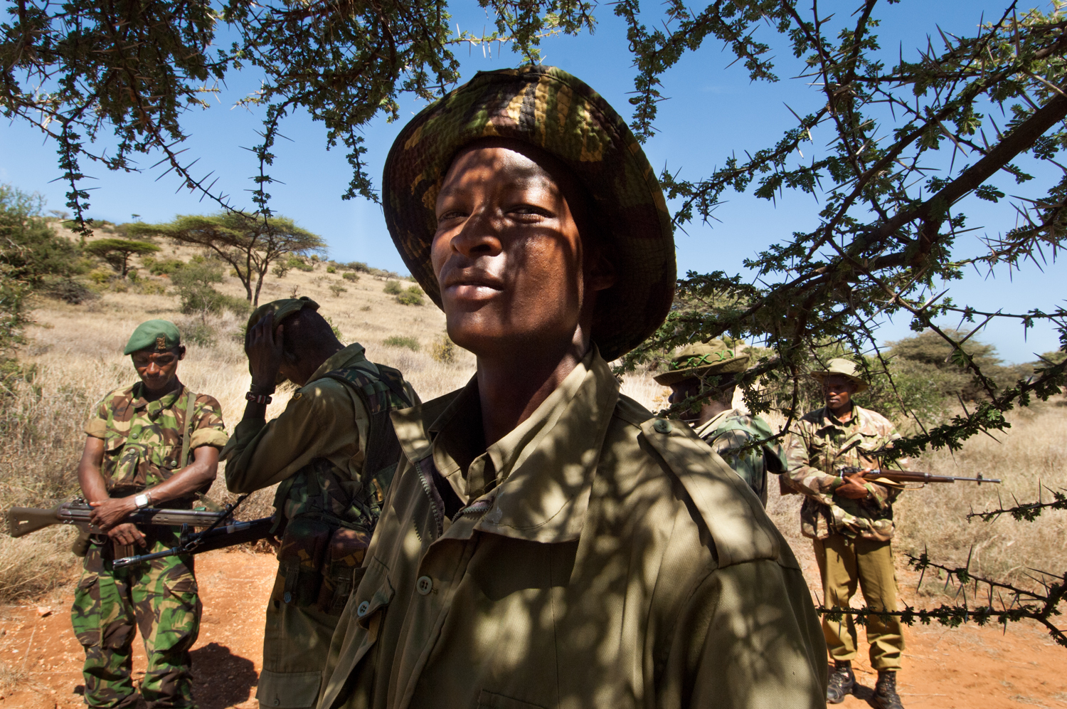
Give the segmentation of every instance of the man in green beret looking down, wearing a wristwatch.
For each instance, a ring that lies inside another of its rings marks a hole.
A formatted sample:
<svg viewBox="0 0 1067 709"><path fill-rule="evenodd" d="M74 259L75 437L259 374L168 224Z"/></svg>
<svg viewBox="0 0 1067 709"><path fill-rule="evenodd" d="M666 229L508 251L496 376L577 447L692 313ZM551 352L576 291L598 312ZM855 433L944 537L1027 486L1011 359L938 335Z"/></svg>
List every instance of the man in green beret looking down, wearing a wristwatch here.
<svg viewBox="0 0 1067 709"><path fill-rule="evenodd" d="M189 649L200 632L193 557L118 570L111 562L131 555L134 546L150 553L178 543L172 527L138 529L124 520L141 507L190 508L214 479L226 434L219 403L178 379L186 348L173 322L141 324L123 353L141 381L103 397L85 426L78 483L107 539L89 543L71 623L85 648L85 704L137 705L130 672L141 628L148 658L141 696L149 708L182 709L194 706Z"/></svg>

